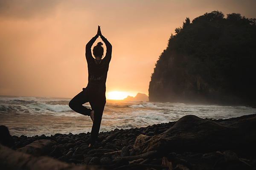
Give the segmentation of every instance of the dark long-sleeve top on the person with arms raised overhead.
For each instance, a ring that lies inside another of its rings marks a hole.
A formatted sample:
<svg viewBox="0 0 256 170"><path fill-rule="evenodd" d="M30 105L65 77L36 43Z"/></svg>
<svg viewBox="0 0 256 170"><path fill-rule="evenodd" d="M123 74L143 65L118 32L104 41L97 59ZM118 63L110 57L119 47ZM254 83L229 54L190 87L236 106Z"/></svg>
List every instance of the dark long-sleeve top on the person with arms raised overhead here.
<svg viewBox="0 0 256 170"><path fill-rule="evenodd" d="M102 41L105 43L107 47L106 56L102 59L102 61L97 65L95 63L95 59L92 56L91 47L93 43L98 38L98 35L93 37L85 47L85 57L87 60L88 65L88 85L98 85L100 87L106 88L106 79L108 74L108 66L111 60L111 53L112 53L112 45L108 40L101 36Z"/></svg>

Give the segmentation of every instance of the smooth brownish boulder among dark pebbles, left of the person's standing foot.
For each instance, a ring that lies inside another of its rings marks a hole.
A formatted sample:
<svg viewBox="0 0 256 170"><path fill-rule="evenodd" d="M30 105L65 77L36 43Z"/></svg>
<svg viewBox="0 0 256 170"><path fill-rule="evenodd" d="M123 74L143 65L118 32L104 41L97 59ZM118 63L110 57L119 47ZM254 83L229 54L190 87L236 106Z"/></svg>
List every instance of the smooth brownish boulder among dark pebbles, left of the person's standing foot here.
<svg viewBox="0 0 256 170"><path fill-rule="evenodd" d="M44 156L50 153L52 146L55 144L55 141L48 139L40 139L24 147L21 147L20 149L17 149L17 151L37 156Z"/></svg>

